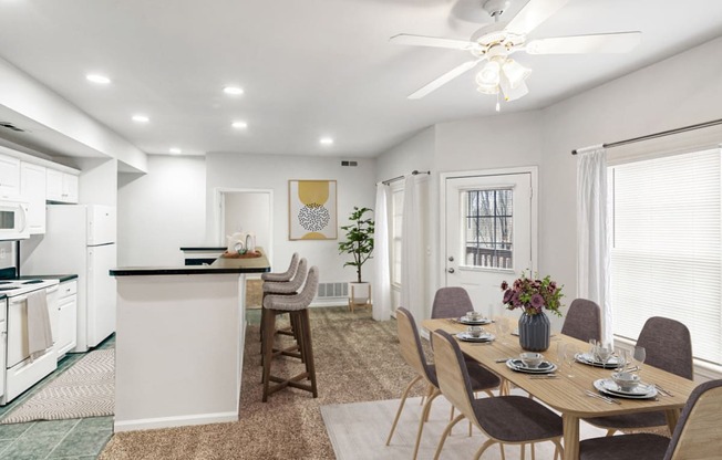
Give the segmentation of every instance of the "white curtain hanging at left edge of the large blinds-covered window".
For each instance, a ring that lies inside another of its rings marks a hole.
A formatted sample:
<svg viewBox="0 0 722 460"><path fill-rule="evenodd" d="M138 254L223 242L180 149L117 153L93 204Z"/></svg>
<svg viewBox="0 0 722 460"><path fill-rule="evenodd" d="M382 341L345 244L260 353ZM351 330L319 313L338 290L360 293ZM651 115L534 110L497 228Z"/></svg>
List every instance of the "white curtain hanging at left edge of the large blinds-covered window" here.
<svg viewBox="0 0 722 460"><path fill-rule="evenodd" d="M577 149L577 295L601 307L601 337L612 339L609 296L611 250L607 195L607 150L602 146Z"/></svg>

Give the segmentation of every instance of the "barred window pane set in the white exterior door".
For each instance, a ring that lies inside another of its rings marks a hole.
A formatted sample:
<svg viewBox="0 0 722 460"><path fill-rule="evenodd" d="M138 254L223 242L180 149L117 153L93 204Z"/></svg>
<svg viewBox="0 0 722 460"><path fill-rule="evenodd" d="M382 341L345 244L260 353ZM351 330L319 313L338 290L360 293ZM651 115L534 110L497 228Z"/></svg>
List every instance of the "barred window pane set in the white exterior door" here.
<svg viewBox="0 0 722 460"><path fill-rule="evenodd" d="M465 265L512 269L514 189L468 190L464 202Z"/></svg>

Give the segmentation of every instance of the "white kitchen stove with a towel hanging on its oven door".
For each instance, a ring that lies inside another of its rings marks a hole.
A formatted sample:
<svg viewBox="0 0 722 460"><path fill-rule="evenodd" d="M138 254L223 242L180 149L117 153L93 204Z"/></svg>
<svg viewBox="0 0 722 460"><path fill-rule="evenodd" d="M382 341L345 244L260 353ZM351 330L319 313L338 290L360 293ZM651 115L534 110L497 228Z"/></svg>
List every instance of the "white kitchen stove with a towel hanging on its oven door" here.
<svg viewBox="0 0 722 460"><path fill-rule="evenodd" d="M10 402L58 367L54 346L32 357L29 353L28 294L38 290L47 293L48 314L54 338L58 330L58 280L0 281L0 292L7 295L7 332L2 334L3 344L0 345L0 348L4 348L4 359L0 359L4 360L0 369L4 374L0 406Z"/></svg>

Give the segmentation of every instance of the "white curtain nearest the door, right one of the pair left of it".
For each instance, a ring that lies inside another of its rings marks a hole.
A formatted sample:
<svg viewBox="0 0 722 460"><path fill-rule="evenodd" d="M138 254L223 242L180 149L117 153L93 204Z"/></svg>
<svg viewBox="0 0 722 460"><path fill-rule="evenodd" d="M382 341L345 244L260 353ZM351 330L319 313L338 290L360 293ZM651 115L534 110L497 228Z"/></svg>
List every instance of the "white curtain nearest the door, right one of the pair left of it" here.
<svg viewBox="0 0 722 460"><path fill-rule="evenodd" d="M425 315L421 200L415 175L404 179L403 227L401 231L401 306L416 321Z"/></svg>

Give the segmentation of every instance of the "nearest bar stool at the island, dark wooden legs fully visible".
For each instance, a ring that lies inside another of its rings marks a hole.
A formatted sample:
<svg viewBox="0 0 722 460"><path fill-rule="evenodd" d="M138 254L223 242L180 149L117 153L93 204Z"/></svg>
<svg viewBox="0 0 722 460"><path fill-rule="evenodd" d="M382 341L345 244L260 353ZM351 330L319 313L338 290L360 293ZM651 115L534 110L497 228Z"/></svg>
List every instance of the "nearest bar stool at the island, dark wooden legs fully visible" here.
<svg viewBox="0 0 722 460"><path fill-rule="evenodd" d="M318 397L316 387L316 368L313 366L313 348L311 346L311 327L309 323L308 306L316 296L318 290L319 274L318 268L311 266L306 278L306 285L298 294L293 295L267 295L264 299L264 402L268 396L286 387L299 388L310 391L313 397ZM297 339L301 360L305 364L306 372L296 376L282 378L271 375L271 364L280 351L274 351L274 330L276 328L276 315L289 313L297 326ZM310 384L302 380L310 380ZM277 385L271 386L271 381Z"/></svg>

